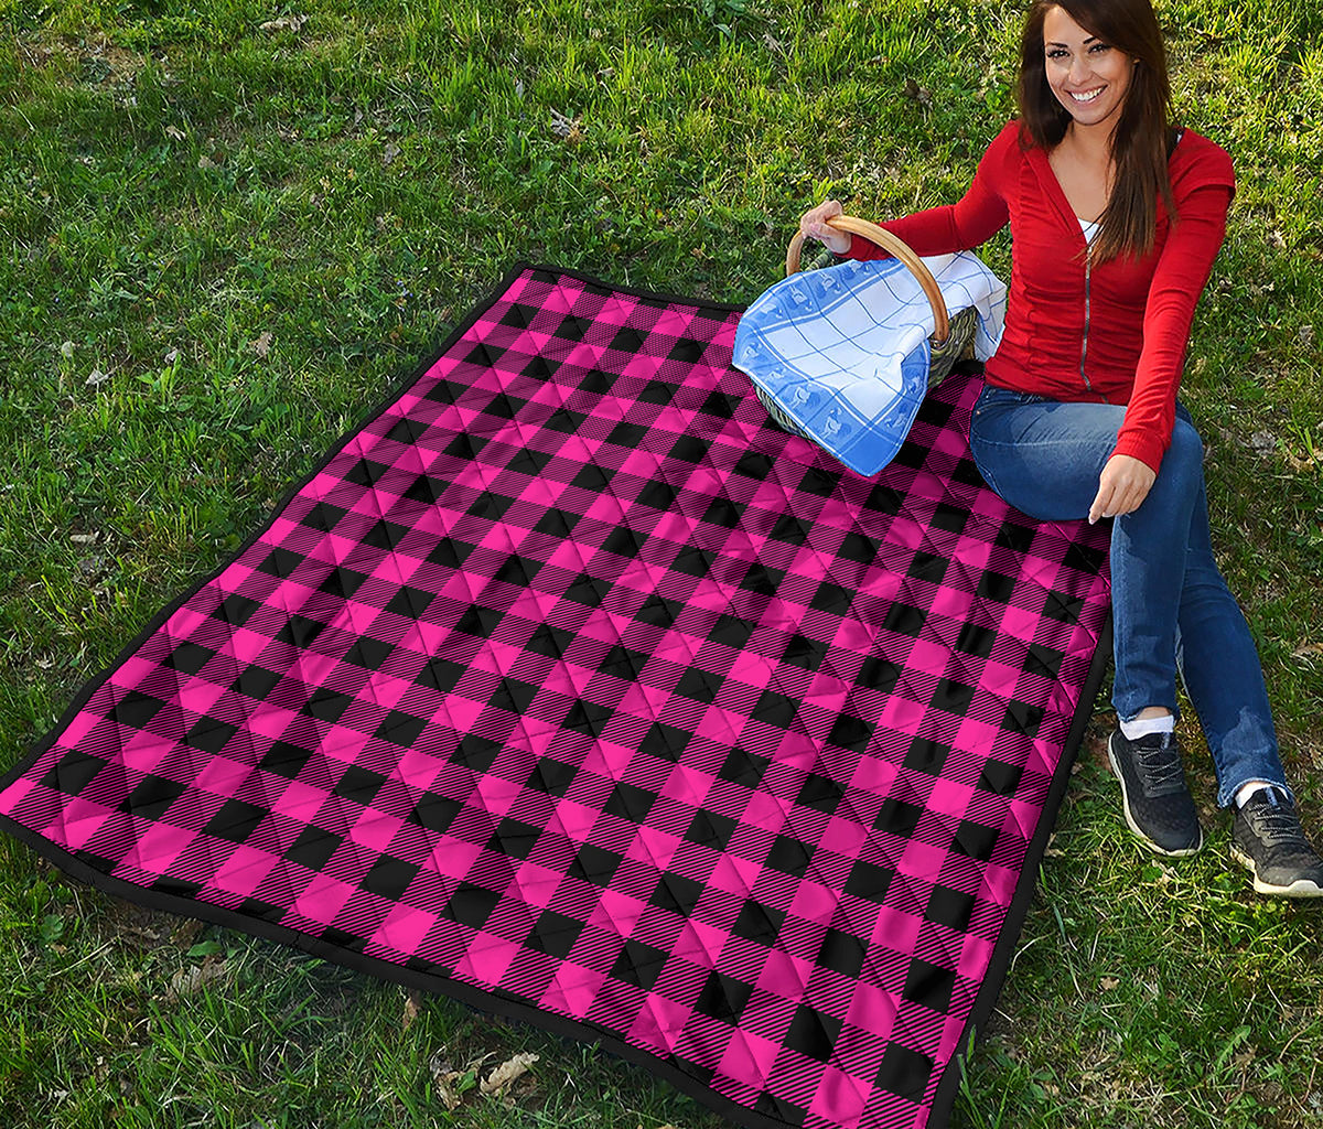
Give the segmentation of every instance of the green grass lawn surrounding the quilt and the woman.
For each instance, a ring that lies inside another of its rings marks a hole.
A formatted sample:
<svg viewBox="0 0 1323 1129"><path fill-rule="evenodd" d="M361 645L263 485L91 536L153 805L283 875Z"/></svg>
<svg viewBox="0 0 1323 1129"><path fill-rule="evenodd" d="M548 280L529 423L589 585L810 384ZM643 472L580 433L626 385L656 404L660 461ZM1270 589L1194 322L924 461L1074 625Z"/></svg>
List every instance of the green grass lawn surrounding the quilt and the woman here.
<svg viewBox="0 0 1323 1129"><path fill-rule="evenodd" d="M745 302L826 193L878 218L957 199L1012 111L1020 11L0 0L0 765L516 258ZM1180 113L1240 176L1185 398L1323 830L1323 11L1160 13ZM1323 1125L1323 916L1228 863L1193 728L1212 846L1136 848L1106 727L953 1124ZM406 1023L398 987L136 911L8 839L0 983L5 1125L721 1124L445 999ZM509 1101L447 1112L430 1063L525 1050Z"/></svg>

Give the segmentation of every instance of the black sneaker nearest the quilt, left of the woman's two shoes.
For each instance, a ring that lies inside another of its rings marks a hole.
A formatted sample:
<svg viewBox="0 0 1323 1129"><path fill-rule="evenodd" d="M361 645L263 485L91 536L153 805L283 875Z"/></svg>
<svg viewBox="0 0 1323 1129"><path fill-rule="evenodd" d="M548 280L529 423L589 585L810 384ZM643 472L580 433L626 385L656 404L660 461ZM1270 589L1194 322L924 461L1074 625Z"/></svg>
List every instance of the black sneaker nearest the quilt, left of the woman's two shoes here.
<svg viewBox="0 0 1323 1129"><path fill-rule="evenodd" d="M1159 855L1192 855L1204 846L1195 801L1180 766L1175 733L1131 741L1121 729L1107 741L1107 760L1121 781L1126 823Z"/></svg>

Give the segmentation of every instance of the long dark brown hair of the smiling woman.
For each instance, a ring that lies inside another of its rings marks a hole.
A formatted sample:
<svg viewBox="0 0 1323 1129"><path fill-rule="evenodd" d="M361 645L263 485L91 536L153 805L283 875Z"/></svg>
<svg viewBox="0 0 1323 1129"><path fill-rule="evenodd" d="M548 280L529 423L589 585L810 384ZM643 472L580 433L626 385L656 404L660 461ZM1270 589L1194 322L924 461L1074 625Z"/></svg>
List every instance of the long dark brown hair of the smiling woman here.
<svg viewBox="0 0 1323 1129"><path fill-rule="evenodd" d="M1176 132L1171 124L1171 83L1158 17L1150 0L1035 0L1020 37L1017 98L1020 144L1025 148L1054 148L1070 123L1070 111L1048 86L1043 23L1052 8L1064 8L1090 34L1136 60L1111 134L1117 168L1111 199L1099 217L1089 254L1093 262L1119 255L1143 258L1152 250L1156 236L1159 192L1167 216L1176 222L1167 175Z"/></svg>

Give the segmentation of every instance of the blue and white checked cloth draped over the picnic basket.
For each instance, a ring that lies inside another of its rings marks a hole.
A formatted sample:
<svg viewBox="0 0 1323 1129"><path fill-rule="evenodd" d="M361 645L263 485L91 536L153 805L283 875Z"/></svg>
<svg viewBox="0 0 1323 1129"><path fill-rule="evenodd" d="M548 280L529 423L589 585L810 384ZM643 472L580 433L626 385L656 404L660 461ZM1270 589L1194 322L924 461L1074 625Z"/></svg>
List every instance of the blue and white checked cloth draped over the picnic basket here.
<svg viewBox="0 0 1323 1129"><path fill-rule="evenodd" d="M974 355L1002 340L1005 283L972 251L923 263L949 314L978 311ZM792 274L759 296L736 330L734 367L819 446L875 475L905 442L927 392L933 308L896 258Z"/></svg>

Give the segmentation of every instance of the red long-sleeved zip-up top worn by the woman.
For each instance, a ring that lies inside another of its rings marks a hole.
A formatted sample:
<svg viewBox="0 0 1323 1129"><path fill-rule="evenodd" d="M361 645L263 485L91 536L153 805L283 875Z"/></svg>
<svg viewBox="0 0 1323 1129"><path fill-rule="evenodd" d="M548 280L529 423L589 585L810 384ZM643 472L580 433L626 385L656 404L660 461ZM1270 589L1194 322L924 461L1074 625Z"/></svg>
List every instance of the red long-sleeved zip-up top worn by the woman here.
<svg viewBox="0 0 1323 1129"><path fill-rule="evenodd" d="M1113 454L1155 471L1171 445L1189 324L1226 233L1236 175L1226 151L1185 130L1167 163L1179 222L1158 197L1154 250L1090 266L1076 253L1084 232L1048 154L1020 150L1009 122L957 204L881 224L921 255L970 250L1011 224L1005 332L986 365L990 384L1049 396L1125 404ZM885 258L856 238L851 258Z"/></svg>

